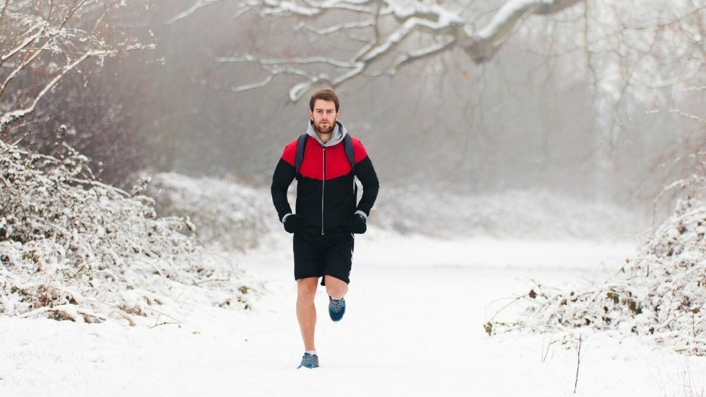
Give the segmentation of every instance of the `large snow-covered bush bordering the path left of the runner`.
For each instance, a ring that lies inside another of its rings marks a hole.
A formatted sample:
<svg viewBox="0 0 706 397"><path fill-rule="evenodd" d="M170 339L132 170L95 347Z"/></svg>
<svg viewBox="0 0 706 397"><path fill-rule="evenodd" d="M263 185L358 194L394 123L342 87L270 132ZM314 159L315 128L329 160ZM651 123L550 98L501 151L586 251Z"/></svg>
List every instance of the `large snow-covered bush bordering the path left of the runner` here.
<svg viewBox="0 0 706 397"><path fill-rule="evenodd" d="M1 313L154 324L189 289L248 305L237 270L205 251L187 218L158 218L151 198L98 182L69 146L61 153L0 141Z"/></svg>

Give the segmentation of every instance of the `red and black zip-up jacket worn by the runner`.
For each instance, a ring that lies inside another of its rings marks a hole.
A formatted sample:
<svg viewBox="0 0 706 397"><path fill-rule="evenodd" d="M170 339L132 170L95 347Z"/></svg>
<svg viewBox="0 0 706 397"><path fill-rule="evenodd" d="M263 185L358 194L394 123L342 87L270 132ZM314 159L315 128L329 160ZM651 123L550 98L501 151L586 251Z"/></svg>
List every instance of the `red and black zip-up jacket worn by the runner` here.
<svg viewBox="0 0 706 397"><path fill-rule="evenodd" d="M346 134L343 125L340 122L337 124L343 134ZM294 169L297 140L285 146L282 158L275 167L270 187L280 221L285 215L292 213L287 200L287 189L294 178L297 178L296 213L301 222L301 231L321 235L350 232L354 213L362 211L366 216L370 215L378 196L378 176L363 143L357 138L352 138L351 141L354 172L342 141L333 146L323 146L318 139L309 136L299 175ZM358 178L363 188L358 203L354 177Z"/></svg>

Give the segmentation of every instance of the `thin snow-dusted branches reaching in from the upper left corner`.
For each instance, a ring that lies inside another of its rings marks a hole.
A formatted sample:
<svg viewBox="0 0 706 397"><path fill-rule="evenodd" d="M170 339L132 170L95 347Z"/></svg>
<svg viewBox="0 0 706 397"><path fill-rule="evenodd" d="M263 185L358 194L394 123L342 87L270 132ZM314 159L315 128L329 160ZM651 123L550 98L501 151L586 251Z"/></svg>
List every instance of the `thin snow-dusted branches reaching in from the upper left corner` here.
<svg viewBox="0 0 706 397"><path fill-rule="evenodd" d="M116 0L0 2L0 133L89 59L144 48L111 31Z"/></svg>

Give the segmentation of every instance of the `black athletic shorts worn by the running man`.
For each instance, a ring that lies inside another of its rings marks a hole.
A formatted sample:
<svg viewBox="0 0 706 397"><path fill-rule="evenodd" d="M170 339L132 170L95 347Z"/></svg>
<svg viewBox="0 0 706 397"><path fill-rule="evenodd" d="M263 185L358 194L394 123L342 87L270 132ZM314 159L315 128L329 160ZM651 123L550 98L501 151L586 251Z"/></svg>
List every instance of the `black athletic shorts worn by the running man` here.
<svg viewBox="0 0 706 397"><path fill-rule="evenodd" d="M294 233L294 279L333 276L350 283L353 235ZM324 285L321 280L321 285Z"/></svg>

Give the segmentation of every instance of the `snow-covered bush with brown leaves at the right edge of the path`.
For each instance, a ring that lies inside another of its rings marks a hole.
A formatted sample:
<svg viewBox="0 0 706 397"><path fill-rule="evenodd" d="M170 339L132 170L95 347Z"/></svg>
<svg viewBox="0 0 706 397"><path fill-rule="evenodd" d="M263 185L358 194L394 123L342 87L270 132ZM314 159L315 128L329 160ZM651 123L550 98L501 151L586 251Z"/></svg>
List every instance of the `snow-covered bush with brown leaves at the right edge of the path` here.
<svg viewBox="0 0 706 397"><path fill-rule="evenodd" d="M678 352L706 355L706 201L686 198L657 227L635 259L602 285L537 284L517 302L515 321L489 321L489 334L590 327L654 339Z"/></svg>

